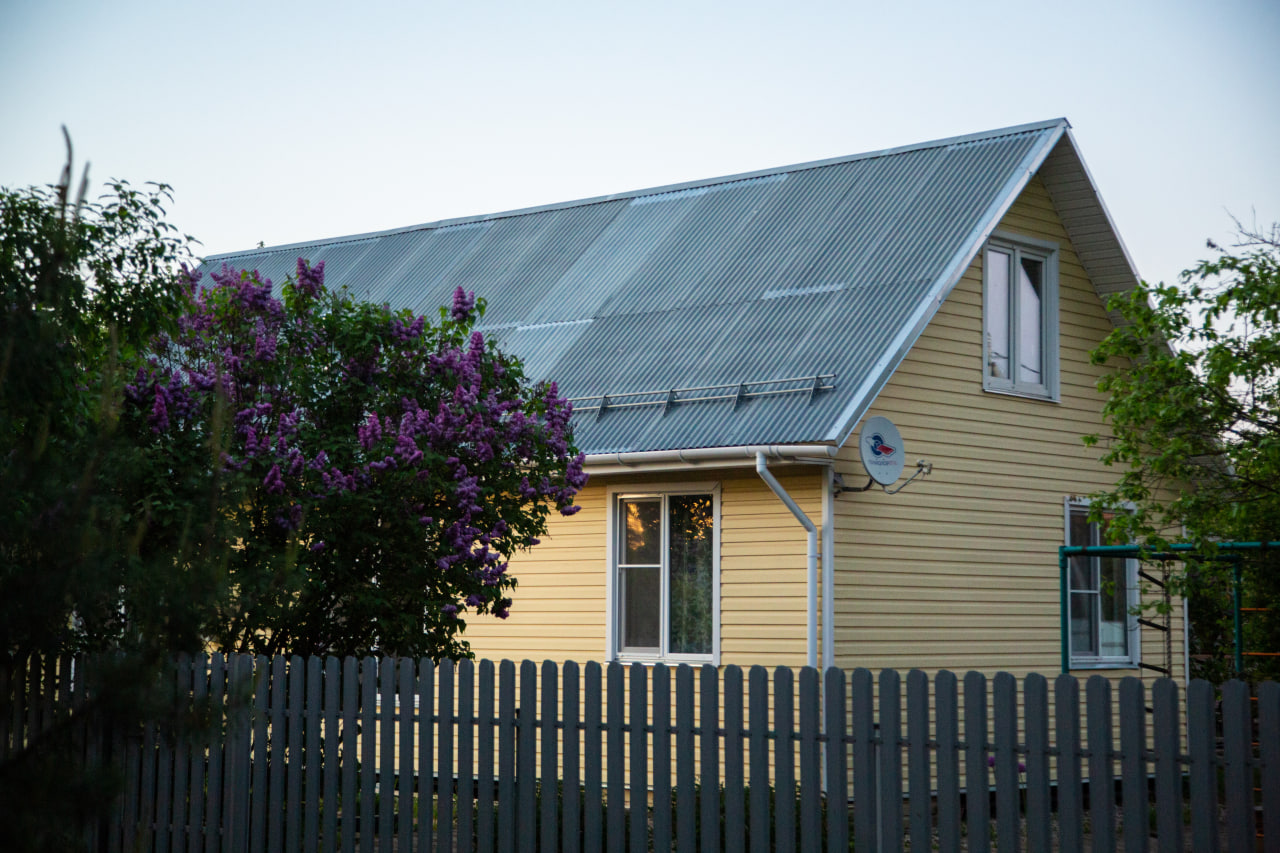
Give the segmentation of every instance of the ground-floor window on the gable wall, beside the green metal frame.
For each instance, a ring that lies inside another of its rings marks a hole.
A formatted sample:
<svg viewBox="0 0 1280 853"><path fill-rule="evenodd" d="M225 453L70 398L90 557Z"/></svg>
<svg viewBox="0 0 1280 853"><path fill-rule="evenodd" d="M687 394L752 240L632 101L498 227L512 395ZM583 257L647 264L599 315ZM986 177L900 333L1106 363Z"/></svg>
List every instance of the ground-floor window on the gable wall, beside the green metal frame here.
<svg viewBox="0 0 1280 853"><path fill-rule="evenodd" d="M1106 520L1089 521L1085 503L1068 503L1066 544L1107 544ZM1135 666L1138 662L1137 561L1125 557L1071 557L1071 666Z"/></svg>

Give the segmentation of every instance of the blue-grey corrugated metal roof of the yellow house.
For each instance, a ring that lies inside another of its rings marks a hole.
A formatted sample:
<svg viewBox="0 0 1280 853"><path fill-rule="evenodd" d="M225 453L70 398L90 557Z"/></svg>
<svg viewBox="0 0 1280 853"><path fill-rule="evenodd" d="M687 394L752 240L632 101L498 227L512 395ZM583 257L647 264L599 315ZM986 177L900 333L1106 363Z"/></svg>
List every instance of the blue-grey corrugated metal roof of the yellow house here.
<svg viewBox="0 0 1280 853"><path fill-rule="evenodd" d="M330 284L428 314L456 287L475 291L489 304L483 328L531 379L554 379L572 398L648 392L630 400L654 401L603 412L584 401L594 407L575 416L576 435L589 453L842 441L1050 151L1056 182L1079 177L1066 127L1059 119L206 265L257 268L279 284L300 255L325 260ZM1116 273L1116 250L1106 250ZM675 388L818 375L835 377L833 387L658 403Z"/></svg>

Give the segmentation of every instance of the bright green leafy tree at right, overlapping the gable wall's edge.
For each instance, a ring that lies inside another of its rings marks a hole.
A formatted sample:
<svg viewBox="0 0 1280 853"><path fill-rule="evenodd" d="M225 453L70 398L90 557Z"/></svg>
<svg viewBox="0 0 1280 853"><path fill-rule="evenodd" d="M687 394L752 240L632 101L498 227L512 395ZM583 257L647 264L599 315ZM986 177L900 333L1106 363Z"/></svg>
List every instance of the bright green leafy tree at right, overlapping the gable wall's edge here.
<svg viewBox="0 0 1280 853"><path fill-rule="evenodd" d="M1280 539L1280 227L1240 233L1231 248L1211 242L1215 256L1183 273L1181 286L1112 297L1124 324L1093 352L1096 364L1124 365L1098 386L1110 394L1111 434L1085 438L1124 471L1094 496L1098 514L1132 510L1115 514L1114 540L1197 546L1170 580L1192 597L1206 642L1230 637L1211 616L1230 617L1215 543ZM1248 562L1247 605L1280 601L1276 567L1268 555ZM1254 620L1254 647L1280 651L1275 616Z"/></svg>

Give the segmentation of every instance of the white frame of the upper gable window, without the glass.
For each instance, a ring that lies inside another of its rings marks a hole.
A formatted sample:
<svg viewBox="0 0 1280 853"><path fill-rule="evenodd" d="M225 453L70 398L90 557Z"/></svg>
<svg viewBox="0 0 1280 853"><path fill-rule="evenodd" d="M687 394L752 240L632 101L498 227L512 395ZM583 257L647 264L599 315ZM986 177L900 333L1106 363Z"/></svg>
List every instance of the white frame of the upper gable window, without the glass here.
<svg viewBox="0 0 1280 853"><path fill-rule="evenodd" d="M991 292L991 263L992 250L1010 255L1010 270L1020 269L1021 259L1030 257L1043 264L1044 280L1041 283L1041 357L1042 382L1021 382L1016 377L1012 365L1018 360L1019 341L1019 305L1018 287L1010 282L1009 287L1009 364L1011 377L991 375L991 329L988 323L993 316ZM995 232L982 250L982 387L983 391L1000 394L1014 394L1016 397L1032 397L1036 400L1048 400L1057 402L1061 398L1059 383L1059 298L1057 298L1057 255L1059 246L1047 240L1024 237L1007 232Z"/></svg>

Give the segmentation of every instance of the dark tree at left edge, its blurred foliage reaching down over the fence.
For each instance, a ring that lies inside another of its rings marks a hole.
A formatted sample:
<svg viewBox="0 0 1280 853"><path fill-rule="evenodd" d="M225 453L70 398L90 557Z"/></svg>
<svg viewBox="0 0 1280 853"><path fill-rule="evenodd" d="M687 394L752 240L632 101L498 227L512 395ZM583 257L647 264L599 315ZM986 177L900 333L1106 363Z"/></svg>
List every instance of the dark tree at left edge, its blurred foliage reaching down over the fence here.
<svg viewBox="0 0 1280 853"><path fill-rule="evenodd" d="M119 779L109 743L91 761L87 739L174 719L178 706L154 689L160 662L168 649L198 648L186 615L210 603L182 587L172 553L148 548L120 488L140 461L120 429L123 365L175 328L187 241L164 222L166 187L113 182L97 202L84 201L86 187L70 199L68 152L56 187L0 190L0 669L81 654L76 686L88 697L6 744L5 849L84 847ZM192 552L201 535L188 534ZM105 649L110 657L86 665L83 654ZM22 685L0 683L0 715L20 720L10 690Z"/></svg>

